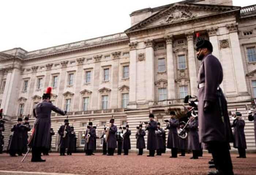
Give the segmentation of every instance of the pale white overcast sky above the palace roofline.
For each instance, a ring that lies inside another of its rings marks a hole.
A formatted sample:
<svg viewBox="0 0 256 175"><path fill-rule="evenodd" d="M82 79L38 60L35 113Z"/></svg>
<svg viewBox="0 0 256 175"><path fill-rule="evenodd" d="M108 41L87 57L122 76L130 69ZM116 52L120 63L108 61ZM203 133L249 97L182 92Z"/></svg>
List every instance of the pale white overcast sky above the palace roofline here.
<svg viewBox="0 0 256 175"><path fill-rule="evenodd" d="M133 11L181 0L0 0L0 51L27 51L123 32ZM248 6L255 0L233 0Z"/></svg>

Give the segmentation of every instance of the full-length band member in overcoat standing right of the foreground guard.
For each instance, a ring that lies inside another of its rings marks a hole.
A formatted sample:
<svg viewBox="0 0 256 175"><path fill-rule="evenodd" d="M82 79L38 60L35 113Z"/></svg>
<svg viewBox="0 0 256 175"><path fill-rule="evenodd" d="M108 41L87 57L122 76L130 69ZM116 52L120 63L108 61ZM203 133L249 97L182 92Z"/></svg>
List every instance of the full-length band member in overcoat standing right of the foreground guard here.
<svg viewBox="0 0 256 175"><path fill-rule="evenodd" d="M236 119L233 121L231 127L234 127L234 148L237 148L239 153L237 158L246 158L245 121L240 112L236 112Z"/></svg>

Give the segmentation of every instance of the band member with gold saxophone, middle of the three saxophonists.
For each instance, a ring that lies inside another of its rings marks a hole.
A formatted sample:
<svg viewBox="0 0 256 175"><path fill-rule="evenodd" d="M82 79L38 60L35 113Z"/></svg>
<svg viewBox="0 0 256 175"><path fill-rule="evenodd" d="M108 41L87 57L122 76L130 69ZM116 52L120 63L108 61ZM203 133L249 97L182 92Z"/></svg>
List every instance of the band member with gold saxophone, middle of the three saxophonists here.
<svg viewBox="0 0 256 175"><path fill-rule="evenodd" d="M88 137L89 135L90 137ZM93 153L95 137L96 137L96 132L95 132L95 129L93 128L93 123L90 121L89 126L87 127L87 130L86 130L86 135L85 135L86 144L84 145L87 156L91 156Z"/></svg>

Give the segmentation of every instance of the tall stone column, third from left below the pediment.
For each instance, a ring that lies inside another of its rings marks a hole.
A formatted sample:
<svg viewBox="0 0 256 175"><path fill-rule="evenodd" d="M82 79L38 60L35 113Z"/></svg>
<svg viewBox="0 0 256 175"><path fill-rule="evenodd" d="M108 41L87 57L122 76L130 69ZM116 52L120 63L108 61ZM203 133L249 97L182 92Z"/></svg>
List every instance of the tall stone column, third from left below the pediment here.
<svg viewBox="0 0 256 175"><path fill-rule="evenodd" d="M168 81L168 99L175 98L174 82L174 61L173 61L173 39L172 36L166 36L166 60L167 60L167 81Z"/></svg>

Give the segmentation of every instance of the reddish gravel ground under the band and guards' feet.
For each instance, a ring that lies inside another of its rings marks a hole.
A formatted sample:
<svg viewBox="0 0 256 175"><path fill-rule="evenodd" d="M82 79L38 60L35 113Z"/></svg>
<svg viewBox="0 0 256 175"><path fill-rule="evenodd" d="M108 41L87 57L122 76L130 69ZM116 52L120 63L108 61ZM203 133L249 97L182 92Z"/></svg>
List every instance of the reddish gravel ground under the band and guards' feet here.
<svg viewBox="0 0 256 175"><path fill-rule="evenodd" d="M105 156L96 153L94 156L84 156L83 153L73 153L72 156L59 156L59 153L50 153L43 156L44 163L31 163L31 154L25 162L21 163L21 156L10 157L8 154L0 155L0 170L29 171L29 172L55 172L70 174L105 175L133 174L133 175L204 175L208 172L210 154L204 154L197 160L189 159L192 155L176 159L169 158L169 154L148 158L145 155L137 156L130 153L128 156ZM236 175L256 174L256 154L247 154L246 159L237 159L237 154L232 154L234 172Z"/></svg>

